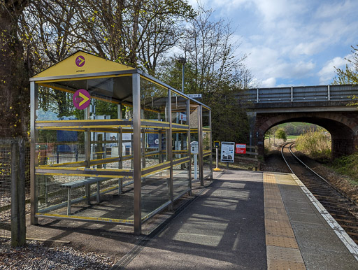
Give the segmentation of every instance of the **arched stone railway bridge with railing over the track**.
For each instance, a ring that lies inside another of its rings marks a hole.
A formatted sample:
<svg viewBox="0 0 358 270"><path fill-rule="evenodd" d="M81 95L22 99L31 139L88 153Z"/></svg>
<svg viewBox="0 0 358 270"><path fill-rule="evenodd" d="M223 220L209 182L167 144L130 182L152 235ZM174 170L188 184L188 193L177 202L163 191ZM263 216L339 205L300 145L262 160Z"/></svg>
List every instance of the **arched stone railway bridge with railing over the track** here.
<svg viewBox="0 0 358 270"><path fill-rule="evenodd" d="M285 122L308 122L327 129L332 157L358 151L358 85L259 88L248 90L250 144L264 155L264 135Z"/></svg>

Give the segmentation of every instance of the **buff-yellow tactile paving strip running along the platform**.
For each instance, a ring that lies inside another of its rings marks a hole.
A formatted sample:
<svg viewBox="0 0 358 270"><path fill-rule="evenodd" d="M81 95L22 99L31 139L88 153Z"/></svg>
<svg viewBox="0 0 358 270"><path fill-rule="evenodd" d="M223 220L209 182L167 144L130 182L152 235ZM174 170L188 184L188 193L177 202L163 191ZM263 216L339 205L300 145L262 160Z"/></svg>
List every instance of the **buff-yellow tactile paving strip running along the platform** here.
<svg viewBox="0 0 358 270"><path fill-rule="evenodd" d="M264 173L264 211L268 269L306 269L274 173Z"/></svg>

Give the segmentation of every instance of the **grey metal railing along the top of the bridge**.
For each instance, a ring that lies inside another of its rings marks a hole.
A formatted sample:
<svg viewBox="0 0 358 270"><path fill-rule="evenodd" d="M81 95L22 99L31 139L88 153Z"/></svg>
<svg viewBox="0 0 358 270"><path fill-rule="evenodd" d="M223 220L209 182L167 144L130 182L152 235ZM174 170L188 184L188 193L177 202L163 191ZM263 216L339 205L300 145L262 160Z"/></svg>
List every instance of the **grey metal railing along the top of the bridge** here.
<svg viewBox="0 0 358 270"><path fill-rule="evenodd" d="M307 101L352 101L358 96L358 85L317 85L250 89L245 99L253 103Z"/></svg>

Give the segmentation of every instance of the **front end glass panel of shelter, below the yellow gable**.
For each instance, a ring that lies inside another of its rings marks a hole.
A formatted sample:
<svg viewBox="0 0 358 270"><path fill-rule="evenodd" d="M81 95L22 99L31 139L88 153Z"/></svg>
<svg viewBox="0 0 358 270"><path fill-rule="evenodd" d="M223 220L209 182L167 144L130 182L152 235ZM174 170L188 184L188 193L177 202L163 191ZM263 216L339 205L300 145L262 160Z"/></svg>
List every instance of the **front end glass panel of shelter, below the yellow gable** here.
<svg viewBox="0 0 358 270"><path fill-rule="evenodd" d="M87 211L87 205L98 188L98 194L109 199L108 196L122 193L122 188L133 181L130 173L133 134L131 94L127 90L127 97L122 100L127 106L121 107L116 99L119 95L114 91L118 87L116 83L128 85L131 81L129 78L131 76L38 83L36 149L41 158L35 162L37 213L55 216L76 213L83 218L102 218L103 221L114 218L118 222L133 222L133 202L130 202L133 199L124 199L126 196L118 197L120 201L115 201L116 205L127 202L127 207L122 208L124 211L106 214L93 209ZM78 110L71 106L73 92L84 85L87 85L86 89L94 99L90 108ZM125 146L121 147L121 151L128 154L124 153L123 159L119 158L120 137L125 143L121 145ZM42 148L46 150L40 150ZM75 187L76 183L93 178L86 174L85 167L101 170L101 173L103 169L108 171L101 175L101 181L94 182L99 183L97 186ZM80 171L74 173L73 169ZM121 177L123 173L125 176ZM64 188L64 184L73 185L73 188Z"/></svg>

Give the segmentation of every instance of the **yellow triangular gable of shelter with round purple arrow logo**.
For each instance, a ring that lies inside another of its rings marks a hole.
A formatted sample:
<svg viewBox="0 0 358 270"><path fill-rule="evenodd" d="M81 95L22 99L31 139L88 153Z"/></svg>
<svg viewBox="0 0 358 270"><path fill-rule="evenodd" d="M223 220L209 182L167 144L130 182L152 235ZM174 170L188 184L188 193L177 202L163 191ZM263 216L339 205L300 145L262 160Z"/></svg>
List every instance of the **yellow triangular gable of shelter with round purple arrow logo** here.
<svg viewBox="0 0 358 270"><path fill-rule="evenodd" d="M134 68L97 57L88 52L79 50L66 59L41 71L32 78L46 78L56 76L73 76L90 73L103 73L111 71L132 71Z"/></svg>

